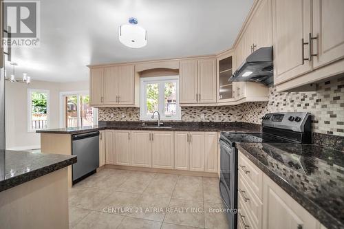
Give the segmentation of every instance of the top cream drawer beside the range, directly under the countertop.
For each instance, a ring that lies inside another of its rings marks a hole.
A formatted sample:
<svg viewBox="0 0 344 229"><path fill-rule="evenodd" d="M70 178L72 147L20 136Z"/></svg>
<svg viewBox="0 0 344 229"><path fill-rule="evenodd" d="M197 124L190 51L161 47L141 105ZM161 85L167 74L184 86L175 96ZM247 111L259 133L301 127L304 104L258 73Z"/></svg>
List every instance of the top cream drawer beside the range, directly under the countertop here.
<svg viewBox="0 0 344 229"><path fill-rule="evenodd" d="M259 199L263 195L263 175L262 171L255 166L250 160L239 151L238 170L242 172L242 179L246 179L247 184L250 184L253 193L255 193Z"/></svg>

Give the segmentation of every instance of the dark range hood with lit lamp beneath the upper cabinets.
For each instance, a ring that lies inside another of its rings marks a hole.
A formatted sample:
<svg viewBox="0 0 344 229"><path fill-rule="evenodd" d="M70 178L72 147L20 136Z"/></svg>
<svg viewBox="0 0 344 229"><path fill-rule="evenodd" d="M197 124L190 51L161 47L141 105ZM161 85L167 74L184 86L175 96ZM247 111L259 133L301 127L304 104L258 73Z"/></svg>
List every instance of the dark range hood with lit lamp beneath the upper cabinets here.
<svg viewBox="0 0 344 229"><path fill-rule="evenodd" d="M251 81L273 85L272 47L261 47L250 54L228 81Z"/></svg>

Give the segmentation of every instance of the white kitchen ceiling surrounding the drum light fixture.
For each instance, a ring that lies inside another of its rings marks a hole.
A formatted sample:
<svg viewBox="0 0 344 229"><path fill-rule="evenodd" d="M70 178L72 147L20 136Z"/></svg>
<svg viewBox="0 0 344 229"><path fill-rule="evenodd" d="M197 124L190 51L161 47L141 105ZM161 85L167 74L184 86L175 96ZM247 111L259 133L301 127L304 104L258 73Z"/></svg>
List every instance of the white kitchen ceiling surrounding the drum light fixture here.
<svg viewBox="0 0 344 229"><path fill-rule="evenodd" d="M215 54L233 45L253 0L43 0L41 46L14 49L17 74L88 79L89 64ZM125 47L118 27L136 17L147 46ZM8 68L9 69L9 68Z"/></svg>

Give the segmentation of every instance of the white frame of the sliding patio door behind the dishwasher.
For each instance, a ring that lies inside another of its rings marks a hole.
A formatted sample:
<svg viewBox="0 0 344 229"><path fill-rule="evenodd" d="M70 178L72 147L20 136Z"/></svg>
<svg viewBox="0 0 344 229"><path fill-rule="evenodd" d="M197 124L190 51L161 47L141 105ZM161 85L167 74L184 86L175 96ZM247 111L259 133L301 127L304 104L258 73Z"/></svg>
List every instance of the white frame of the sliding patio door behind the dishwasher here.
<svg viewBox="0 0 344 229"><path fill-rule="evenodd" d="M65 128L65 101L63 100L64 96L78 96L78 105L80 104L80 96L89 95L89 91L60 91L60 128ZM79 109L79 107L77 107ZM94 117L93 122L95 125L98 124L98 109L94 108ZM78 127L80 126L80 112L78 113Z"/></svg>

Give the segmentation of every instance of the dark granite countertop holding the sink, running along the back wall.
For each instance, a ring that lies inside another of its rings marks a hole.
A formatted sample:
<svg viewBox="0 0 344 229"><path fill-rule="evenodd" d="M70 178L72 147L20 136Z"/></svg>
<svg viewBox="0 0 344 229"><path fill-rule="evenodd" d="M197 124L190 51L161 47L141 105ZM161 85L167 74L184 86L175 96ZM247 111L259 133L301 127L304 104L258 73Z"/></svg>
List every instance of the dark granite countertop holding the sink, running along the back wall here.
<svg viewBox="0 0 344 229"><path fill-rule="evenodd" d="M96 126L69 127L60 129L45 129L37 133L63 133L76 134L104 129L126 129L147 131L230 131L230 132L259 132L259 124L247 122L164 122L161 127L156 127L157 122L102 122Z"/></svg>

